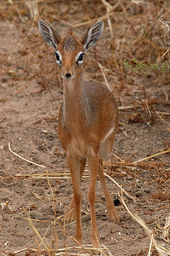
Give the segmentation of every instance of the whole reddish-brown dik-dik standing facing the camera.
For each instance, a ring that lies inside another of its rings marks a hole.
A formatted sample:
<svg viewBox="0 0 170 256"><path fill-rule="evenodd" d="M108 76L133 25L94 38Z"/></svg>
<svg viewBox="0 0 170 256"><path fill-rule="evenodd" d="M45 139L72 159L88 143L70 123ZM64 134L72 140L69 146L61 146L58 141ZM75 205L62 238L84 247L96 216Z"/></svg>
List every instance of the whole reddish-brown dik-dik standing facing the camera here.
<svg viewBox="0 0 170 256"><path fill-rule="evenodd" d="M80 184L88 158L89 186L87 190L91 213L91 240L99 248L95 218L95 184L98 177L106 198L106 206L112 222L119 217L109 195L103 174L102 159L112 151L118 126L118 107L106 85L98 81L84 81L83 59L85 52L100 39L103 20L91 26L79 41L69 27L63 39L43 20L38 21L40 33L55 50L58 72L63 78L63 104L58 119L60 143L67 153L67 161L73 183L73 198L67 223L76 219L76 240L82 244ZM97 254L97 251L93 251Z"/></svg>

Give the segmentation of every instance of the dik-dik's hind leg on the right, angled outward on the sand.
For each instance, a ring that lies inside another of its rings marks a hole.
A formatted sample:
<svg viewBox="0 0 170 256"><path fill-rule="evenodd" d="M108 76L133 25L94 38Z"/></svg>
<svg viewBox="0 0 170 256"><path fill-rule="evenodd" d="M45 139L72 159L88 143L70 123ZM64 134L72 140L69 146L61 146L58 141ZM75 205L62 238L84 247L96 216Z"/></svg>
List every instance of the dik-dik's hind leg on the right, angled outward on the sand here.
<svg viewBox="0 0 170 256"><path fill-rule="evenodd" d="M107 184L106 184L106 180L104 178L103 160L102 159L99 160L98 177L100 179L101 186L102 186L102 189L103 189L103 192L104 192L104 197L106 199L106 207L107 207L107 210L108 210L109 215L110 215L110 220L112 222L119 223L120 222L119 217L116 213L115 206L113 204L112 198L110 197L109 190L108 190Z"/></svg>

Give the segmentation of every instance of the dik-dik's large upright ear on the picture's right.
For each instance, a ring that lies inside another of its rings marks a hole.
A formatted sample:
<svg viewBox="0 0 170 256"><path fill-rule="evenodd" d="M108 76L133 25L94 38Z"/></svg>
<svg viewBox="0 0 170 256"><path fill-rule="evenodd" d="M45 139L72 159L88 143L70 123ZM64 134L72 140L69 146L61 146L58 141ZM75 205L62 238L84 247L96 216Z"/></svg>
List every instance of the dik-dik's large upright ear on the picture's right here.
<svg viewBox="0 0 170 256"><path fill-rule="evenodd" d="M103 34L104 21L99 20L92 25L81 39L81 43L84 46L84 52L86 52L91 46L97 43Z"/></svg>

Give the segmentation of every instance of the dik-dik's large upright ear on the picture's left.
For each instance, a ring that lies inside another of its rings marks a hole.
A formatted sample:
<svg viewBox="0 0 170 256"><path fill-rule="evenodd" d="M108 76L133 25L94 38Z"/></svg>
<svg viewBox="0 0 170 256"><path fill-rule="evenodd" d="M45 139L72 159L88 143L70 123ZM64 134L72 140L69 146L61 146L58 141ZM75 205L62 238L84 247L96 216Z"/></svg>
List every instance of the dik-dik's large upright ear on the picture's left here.
<svg viewBox="0 0 170 256"><path fill-rule="evenodd" d="M40 34L42 38L45 40L47 44L52 46L55 50L57 49L58 43L60 43L61 38L57 33L55 33L54 29L50 27L45 21L38 20Z"/></svg>

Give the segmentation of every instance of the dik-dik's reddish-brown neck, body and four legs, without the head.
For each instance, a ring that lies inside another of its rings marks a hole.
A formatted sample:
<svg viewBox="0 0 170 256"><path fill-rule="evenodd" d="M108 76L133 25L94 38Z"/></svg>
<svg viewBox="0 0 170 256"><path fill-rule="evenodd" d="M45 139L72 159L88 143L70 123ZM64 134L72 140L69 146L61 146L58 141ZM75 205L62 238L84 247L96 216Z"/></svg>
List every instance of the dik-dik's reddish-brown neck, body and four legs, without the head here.
<svg viewBox="0 0 170 256"><path fill-rule="evenodd" d="M87 195L91 207L91 237L93 247L99 247L95 236L97 235L98 238L94 209L97 173L106 198L110 219L113 222L119 222L115 206L107 189L102 164L102 158L112 151L118 126L118 107L113 94L106 85L100 82L84 82L82 74L76 76L75 79L73 78L71 86L69 82L64 81L64 102L60 108L58 122L59 139L67 152L74 192L67 223L74 221L76 216L76 239L82 243L82 196L76 180L81 180L84 162L88 157L91 183ZM112 127L114 127L113 132L102 142ZM83 159L84 162L81 163ZM97 253L97 251L93 253Z"/></svg>

